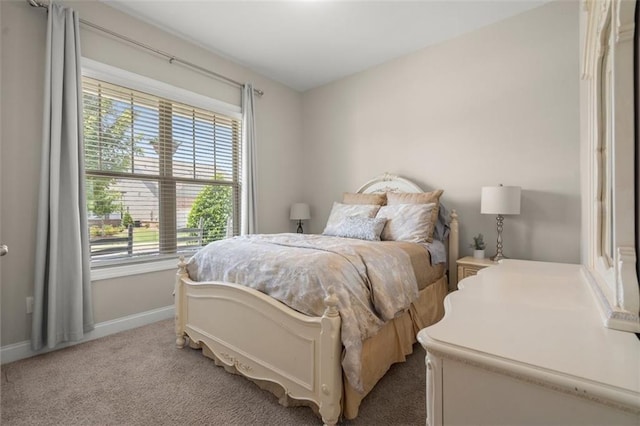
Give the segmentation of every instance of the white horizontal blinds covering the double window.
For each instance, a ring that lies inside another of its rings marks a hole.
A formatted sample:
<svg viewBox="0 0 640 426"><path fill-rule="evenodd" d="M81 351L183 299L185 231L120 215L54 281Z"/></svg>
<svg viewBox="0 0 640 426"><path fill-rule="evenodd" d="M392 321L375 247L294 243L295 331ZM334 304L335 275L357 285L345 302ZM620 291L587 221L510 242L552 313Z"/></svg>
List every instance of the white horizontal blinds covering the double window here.
<svg viewBox="0 0 640 426"><path fill-rule="evenodd" d="M94 260L237 234L239 120L89 77L83 92Z"/></svg>

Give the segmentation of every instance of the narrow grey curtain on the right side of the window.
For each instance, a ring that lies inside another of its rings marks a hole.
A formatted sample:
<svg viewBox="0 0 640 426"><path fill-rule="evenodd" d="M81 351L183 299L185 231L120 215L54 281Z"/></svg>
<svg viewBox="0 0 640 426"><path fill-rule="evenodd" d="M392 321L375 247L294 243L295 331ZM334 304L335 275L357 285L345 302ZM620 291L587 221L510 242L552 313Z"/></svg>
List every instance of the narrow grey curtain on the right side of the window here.
<svg viewBox="0 0 640 426"><path fill-rule="evenodd" d="M256 128L253 86L242 88L242 203L240 233L258 232L256 212Z"/></svg>

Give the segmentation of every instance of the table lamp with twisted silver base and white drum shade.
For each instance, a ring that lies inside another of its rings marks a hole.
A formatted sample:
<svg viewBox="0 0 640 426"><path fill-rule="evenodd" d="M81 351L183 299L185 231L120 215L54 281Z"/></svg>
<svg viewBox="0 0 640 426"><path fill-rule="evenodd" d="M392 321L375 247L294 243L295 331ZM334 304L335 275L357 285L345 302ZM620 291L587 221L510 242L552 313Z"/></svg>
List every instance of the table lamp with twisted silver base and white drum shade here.
<svg viewBox="0 0 640 426"><path fill-rule="evenodd" d="M504 215L520 214L520 192L519 186L500 185L482 187L480 213L498 215L496 255L491 258L494 262L505 258L502 253L502 224L504 222Z"/></svg>

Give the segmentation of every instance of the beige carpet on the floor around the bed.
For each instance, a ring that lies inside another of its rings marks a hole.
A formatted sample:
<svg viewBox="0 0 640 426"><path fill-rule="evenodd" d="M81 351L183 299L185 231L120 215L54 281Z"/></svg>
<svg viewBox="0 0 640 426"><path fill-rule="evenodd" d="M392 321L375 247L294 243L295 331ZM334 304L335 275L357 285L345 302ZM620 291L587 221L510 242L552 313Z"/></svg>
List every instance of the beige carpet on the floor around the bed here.
<svg viewBox="0 0 640 426"><path fill-rule="evenodd" d="M198 350L161 321L2 366L2 425L320 425ZM345 425L424 425L424 350L414 346Z"/></svg>

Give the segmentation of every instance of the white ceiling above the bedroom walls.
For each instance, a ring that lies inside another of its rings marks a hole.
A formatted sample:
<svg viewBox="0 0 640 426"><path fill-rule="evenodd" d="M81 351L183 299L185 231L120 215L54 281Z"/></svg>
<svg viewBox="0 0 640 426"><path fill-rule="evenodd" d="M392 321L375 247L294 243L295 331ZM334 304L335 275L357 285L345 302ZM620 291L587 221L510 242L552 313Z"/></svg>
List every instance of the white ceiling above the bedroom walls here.
<svg viewBox="0 0 640 426"><path fill-rule="evenodd" d="M305 91L549 0L102 0Z"/></svg>

